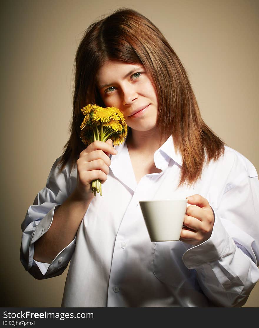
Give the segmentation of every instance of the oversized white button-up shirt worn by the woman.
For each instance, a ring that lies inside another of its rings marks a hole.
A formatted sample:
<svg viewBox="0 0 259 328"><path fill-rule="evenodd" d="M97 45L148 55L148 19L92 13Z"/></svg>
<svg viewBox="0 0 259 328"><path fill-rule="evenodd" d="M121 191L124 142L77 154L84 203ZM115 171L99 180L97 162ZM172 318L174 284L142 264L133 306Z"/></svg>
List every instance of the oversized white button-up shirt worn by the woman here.
<svg viewBox="0 0 259 328"><path fill-rule="evenodd" d="M63 307L242 306L259 279L259 181L243 155L225 148L205 166L201 180L177 188L182 158L172 137L154 154L161 173L137 184L126 142L111 156L102 194L93 198L74 241L51 264L33 260L34 242L50 227L55 208L76 187L76 170L58 174L22 223L21 261L38 279L67 267ZM198 246L182 241L151 242L140 200L205 197L215 213L211 237Z"/></svg>

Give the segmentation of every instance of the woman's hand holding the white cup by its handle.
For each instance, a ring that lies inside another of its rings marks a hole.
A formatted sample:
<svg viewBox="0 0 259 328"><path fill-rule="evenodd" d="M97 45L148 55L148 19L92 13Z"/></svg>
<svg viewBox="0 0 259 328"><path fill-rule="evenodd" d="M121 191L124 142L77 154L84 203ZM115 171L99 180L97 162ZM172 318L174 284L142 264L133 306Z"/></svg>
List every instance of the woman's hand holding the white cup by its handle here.
<svg viewBox="0 0 259 328"><path fill-rule="evenodd" d="M201 195L186 197L191 204L186 208L180 240L187 244L199 245L211 236L214 213L207 199Z"/></svg>

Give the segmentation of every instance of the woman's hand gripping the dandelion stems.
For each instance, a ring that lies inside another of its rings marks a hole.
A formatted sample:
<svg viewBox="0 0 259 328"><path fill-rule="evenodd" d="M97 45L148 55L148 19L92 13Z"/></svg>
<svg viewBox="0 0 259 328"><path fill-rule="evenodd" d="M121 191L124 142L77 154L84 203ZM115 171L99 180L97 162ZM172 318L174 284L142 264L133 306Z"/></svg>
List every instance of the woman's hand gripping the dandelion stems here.
<svg viewBox="0 0 259 328"><path fill-rule="evenodd" d="M110 154L117 154L111 139L105 142L96 140L80 153L76 161L77 185L74 191L77 199L91 200L94 197L92 181L99 179L104 183L107 180L111 165Z"/></svg>

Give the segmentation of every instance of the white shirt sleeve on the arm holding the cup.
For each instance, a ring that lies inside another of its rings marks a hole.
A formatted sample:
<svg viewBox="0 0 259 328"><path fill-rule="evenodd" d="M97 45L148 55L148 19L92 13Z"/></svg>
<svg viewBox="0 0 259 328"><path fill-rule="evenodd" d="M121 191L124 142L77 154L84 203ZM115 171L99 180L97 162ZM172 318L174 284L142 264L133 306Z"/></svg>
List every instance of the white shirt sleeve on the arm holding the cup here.
<svg viewBox="0 0 259 328"><path fill-rule="evenodd" d="M211 237L183 255L185 266L196 270L203 292L218 306L244 305L259 279L259 181L247 164L245 173L229 174L219 206L213 208Z"/></svg>

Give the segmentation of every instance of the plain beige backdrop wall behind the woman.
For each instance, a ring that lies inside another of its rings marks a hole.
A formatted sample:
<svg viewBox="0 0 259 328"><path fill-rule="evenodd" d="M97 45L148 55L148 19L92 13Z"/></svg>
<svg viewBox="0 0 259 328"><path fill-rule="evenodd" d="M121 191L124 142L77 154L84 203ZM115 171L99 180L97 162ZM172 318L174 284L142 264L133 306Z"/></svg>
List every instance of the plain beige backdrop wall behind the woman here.
<svg viewBox="0 0 259 328"><path fill-rule="evenodd" d="M19 260L20 225L68 138L73 61L83 31L119 7L140 11L161 29L189 74L205 122L259 171L258 1L6 1L1 6L2 306L61 304L67 270L46 280L31 277ZM245 306L259 306L259 282Z"/></svg>

